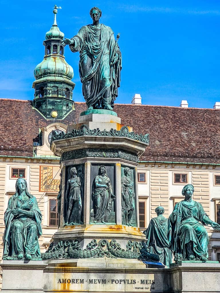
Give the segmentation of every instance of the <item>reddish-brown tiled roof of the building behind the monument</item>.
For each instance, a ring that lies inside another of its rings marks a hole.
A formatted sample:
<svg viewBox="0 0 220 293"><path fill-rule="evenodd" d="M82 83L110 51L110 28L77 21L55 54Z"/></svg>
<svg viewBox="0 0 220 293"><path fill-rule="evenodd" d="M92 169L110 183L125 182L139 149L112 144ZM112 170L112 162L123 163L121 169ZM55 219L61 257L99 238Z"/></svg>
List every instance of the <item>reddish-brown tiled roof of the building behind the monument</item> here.
<svg viewBox="0 0 220 293"><path fill-rule="evenodd" d="M77 122L86 110L75 102L62 123ZM220 110L115 104L121 123L136 133L149 133L142 161L220 163ZM33 156L39 128L53 123L32 108L31 101L0 99L0 155Z"/></svg>

